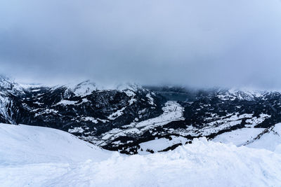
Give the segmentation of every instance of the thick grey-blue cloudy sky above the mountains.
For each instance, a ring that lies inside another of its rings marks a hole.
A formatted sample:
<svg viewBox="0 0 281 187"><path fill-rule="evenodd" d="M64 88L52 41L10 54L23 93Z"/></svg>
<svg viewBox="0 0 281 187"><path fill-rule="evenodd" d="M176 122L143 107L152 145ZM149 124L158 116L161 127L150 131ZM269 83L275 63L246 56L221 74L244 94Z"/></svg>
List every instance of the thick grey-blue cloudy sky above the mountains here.
<svg viewBox="0 0 281 187"><path fill-rule="evenodd" d="M1 0L0 73L281 89L281 1Z"/></svg>

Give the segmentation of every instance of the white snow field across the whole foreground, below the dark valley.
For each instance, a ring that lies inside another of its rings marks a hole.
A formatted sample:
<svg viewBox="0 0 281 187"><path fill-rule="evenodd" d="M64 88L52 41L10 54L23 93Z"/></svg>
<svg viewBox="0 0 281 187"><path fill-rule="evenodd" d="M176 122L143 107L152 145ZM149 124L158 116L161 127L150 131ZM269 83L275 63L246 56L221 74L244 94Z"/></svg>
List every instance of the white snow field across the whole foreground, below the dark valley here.
<svg viewBox="0 0 281 187"><path fill-rule="evenodd" d="M0 124L0 186L280 186L274 151L195 139L174 151L120 155L46 127Z"/></svg>

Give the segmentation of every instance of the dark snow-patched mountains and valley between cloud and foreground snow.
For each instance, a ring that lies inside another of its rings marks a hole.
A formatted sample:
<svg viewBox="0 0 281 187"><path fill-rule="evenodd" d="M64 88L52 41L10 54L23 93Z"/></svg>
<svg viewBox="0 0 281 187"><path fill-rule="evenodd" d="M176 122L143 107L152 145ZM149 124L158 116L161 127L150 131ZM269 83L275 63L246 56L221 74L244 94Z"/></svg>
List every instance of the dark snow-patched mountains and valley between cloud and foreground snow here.
<svg viewBox="0 0 281 187"><path fill-rule="evenodd" d="M127 154L168 151L195 137L214 139L244 128L270 131L280 122L281 93L275 91L136 84L105 89L91 81L52 87L0 77L0 123L52 127Z"/></svg>

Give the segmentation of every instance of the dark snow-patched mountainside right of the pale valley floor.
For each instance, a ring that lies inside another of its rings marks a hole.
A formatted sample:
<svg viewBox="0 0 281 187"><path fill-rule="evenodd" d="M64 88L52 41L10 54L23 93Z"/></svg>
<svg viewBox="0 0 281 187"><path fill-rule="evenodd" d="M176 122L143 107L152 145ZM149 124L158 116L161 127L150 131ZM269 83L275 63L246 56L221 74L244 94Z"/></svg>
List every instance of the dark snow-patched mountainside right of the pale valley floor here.
<svg viewBox="0 0 281 187"><path fill-rule="evenodd" d="M162 88L152 90L163 92ZM214 139L228 132L238 134L238 137L247 134L255 138L254 135L281 122L281 95L277 91L190 91L183 88L164 88L164 91L172 93L173 98L186 92L185 101L178 102L183 108L183 119L151 128L138 139L138 153L169 151L189 144L194 138ZM240 141L240 144L246 144L246 141Z"/></svg>

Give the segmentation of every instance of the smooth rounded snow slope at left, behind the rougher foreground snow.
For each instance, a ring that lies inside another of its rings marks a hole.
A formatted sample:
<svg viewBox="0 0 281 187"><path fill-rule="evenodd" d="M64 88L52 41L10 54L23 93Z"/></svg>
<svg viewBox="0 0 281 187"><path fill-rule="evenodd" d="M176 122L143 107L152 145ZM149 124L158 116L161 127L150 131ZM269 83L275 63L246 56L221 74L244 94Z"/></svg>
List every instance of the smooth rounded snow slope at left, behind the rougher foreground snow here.
<svg viewBox="0 0 281 187"><path fill-rule="evenodd" d="M110 156L61 130L0 123L0 167L55 162L100 161Z"/></svg>

